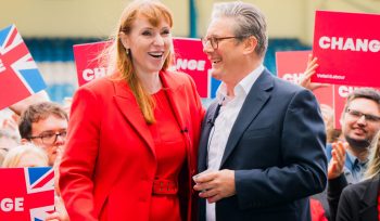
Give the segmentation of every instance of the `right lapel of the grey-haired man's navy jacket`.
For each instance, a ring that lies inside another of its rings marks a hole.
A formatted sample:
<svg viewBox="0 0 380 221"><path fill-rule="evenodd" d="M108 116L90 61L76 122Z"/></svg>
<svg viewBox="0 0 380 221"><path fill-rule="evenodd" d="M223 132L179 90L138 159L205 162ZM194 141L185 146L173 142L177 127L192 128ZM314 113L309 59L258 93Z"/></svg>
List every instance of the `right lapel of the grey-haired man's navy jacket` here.
<svg viewBox="0 0 380 221"><path fill-rule="evenodd" d="M257 78L256 82L254 82L252 86L251 91L246 95L243 106L241 107L238 118L235 121L229 134L226 150L221 158L220 168L232 153L245 129L249 127L252 120L254 120L267 100L270 98L270 89L274 87L273 83L273 77L267 70L264 70Z"/></svg>

